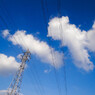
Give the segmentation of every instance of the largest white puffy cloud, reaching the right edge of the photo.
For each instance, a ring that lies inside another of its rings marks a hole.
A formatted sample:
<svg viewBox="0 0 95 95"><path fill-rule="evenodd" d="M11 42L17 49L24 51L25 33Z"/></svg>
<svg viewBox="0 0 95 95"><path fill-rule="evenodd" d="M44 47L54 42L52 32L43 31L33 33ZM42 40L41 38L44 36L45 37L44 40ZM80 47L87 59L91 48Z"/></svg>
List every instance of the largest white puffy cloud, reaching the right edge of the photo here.
<svg viewBox="0 0 95 95"><path fill-rule="evenodd" d="M86 71L94 69L88 50L95 51L95 23L89 31L82 31L75 24L70 24L67 16L55 17L49 22L47 36L68 47L77 67Z"/></svg>

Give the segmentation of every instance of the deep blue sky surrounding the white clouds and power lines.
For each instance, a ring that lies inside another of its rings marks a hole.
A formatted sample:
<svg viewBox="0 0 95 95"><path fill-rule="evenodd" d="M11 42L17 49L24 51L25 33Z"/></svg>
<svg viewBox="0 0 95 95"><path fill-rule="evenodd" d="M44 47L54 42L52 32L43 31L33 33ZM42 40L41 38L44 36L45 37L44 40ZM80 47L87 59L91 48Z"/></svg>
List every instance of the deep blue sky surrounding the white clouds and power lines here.
<svg viewBox="0 0 95 95"><path fill-rule="evenodd" d="M48 12L45 11L47 28L51 19L58 17L57 5L57 0L47 0ZM46 5L44 8L46 9ZM94 9L94 0L61 0L61 16L68 16L69 23L76 27L80 26L81 31L89 32L92 28L95 20ZM65 84L67 84L67 95L94 95L95 70L85 71L74 65L74 58L68 46L60 47L60 40L54 40L52 35L47 37L48 31L44 23L41 0L0 0L0 54L13 56L20 62L17 56L22 53L22 48L19 45L13 45L12 41L3 37L2 31L5 29L8 29L12 35L17 30L25 30L26 34L46 42L55 51L63 52L65 55L66 77L64 66L54 69L51 64L46 64L48 62L43 62L37 56L32 55L24 72L21 93L24 95L66 95ZM88 49L87 51L94 64L94 51ZM13 75L0 75L0 90L6 90L12 78Z"/></svg>

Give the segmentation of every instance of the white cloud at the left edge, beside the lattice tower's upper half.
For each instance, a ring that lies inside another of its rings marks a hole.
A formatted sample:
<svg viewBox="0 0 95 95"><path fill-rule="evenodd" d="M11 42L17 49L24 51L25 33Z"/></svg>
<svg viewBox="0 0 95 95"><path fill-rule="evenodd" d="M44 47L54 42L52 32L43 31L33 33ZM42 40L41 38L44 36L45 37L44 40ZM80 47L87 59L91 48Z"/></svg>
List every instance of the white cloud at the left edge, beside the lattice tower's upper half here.
<svg viewBox="0 0 95 95"><path fill-rule="evenodd" d="M0 54L0 74L9 75L15 72L19 68L19 63L16 62L15 58Z"/></svg>

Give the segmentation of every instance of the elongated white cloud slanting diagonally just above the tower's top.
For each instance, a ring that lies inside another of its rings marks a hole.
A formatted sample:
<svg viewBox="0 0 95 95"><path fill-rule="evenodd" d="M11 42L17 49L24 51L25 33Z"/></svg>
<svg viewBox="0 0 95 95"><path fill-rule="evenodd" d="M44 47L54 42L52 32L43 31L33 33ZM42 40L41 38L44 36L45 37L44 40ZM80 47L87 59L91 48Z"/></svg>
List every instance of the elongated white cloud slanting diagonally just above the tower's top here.
<svg viewBox="0 0 95 95"><path fill-rule="evenodd" d="M49 63L55 68L63 64L63 53L55 51L46 42L40 41L26 31L16 31L14 35L9 35L8 40L14 45L21 46L24 50L29 49L31 54L36 55L44 63Z"/></svg>

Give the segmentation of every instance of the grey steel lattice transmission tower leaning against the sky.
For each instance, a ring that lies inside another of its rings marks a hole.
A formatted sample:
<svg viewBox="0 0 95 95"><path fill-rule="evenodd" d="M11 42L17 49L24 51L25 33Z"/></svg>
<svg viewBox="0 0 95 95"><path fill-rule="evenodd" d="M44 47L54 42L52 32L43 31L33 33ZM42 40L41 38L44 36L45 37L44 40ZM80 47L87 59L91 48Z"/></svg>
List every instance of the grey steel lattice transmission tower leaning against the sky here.
<svg viewBox="0 0 95 95"><path fill-rule="evenodd" d="M30 56L31 56L31 53L29 50L24 52L21 58L21 65L8 88L8 95L19 95L23 72L26 66L26 62L29 61Z"/></svg>

